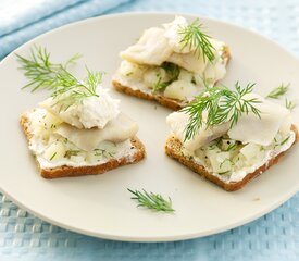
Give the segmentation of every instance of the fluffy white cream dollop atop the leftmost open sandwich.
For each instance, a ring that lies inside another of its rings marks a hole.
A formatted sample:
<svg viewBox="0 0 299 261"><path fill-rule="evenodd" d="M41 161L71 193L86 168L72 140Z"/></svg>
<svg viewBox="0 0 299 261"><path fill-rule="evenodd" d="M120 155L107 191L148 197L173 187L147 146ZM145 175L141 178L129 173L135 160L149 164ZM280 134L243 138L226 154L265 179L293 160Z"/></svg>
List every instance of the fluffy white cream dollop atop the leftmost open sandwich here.
<svg viewBox="0 0 299 261"><path fill-rule="evenodd" d="M85 98L82 102L72 104L66 109L61 108L61 104L53 98L48 98L39 105L77 128L103 128L109 121L120 113L120 101L111 98L108 92L108 89L98 86L98 97Z"/></svg>

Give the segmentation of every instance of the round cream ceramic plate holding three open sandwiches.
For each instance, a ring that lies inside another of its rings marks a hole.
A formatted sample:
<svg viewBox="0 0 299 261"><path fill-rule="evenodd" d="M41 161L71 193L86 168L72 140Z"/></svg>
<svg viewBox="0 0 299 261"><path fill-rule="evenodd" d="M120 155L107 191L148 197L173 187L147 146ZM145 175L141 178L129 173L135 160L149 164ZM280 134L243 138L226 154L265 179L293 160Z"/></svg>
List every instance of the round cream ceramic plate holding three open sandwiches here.
<svg viewBox="0 0 299 261"><path fill-rule="evenodd" d="M186 15L194 20L195 16ZM120 14L91 18L45 34L17 49L27 55L36 44L45 46L52 59L64 61L74 53L84 64L108 72L105 86L120 64L119 52L134 42L142 29L172 21L174 14ZM290 96L299 97L299 62L274 42L252 32L214 20L202 18L209 33L231 47L233 59L224 80L257 83L256 91L266 94L291 83ZM139 137L147 158L135 165L103 175L48 181L39 176L18 124L23 111L34 108L45 94L21 90L25 83L15 55L0 64L1 75L1 190L37 216L71 231L97 237L162 241L211 235L252 221L277 208L298 191L299 147L262 176L236 192L226 192L164 154L171 112L159 104L111 91L121 108L140 126ZM299 123L298 110L294 112ZM136 208L126 188L152 190L170 196L174 214Z"/></svg>

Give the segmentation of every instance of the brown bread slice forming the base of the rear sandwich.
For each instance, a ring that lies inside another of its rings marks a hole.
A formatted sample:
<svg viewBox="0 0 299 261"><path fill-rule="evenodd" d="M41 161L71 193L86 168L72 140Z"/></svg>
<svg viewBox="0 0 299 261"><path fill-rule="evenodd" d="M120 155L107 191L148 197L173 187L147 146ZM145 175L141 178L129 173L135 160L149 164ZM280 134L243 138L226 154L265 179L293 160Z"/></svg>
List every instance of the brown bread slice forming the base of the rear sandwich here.
<svg viewBox="0 0 299 261"><path fill-rule="evenodd" d="M231 52L228 48L225 49L225 51L222 54L223 60L225 61L225 66L227 66L229 60L231 60ZM122 83L117 80L117 78L112 79L112 84L114 88L117 91L124 92L126 95L135 96L141 99L146 100L152 100L152 101L158 101L160 104L167 107L174 111L180 110L184 108L186 104L189 103L187 100L177 100L177 99L172 99L163 96L161 92L150 92L150 91L142 91L140 89L136 89L134 86L125 86Z"/></svg>

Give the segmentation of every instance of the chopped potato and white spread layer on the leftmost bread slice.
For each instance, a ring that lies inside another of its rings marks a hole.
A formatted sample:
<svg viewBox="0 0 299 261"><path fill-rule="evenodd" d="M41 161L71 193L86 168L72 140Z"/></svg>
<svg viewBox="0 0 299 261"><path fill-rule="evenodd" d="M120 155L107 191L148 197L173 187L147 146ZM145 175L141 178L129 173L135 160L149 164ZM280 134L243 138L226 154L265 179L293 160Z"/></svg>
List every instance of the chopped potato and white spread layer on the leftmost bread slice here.
<svg viewBox="0 0 299 261"><path fill-rule="evenodd" d="M27 113L27 117L28 132L32 134L29 149L36 156L40 167L97 165L111 159L120 160L124 157L128 162L134 160L133 156L136 152L136 148L132 145L130 138L135 136L138 127L137 129L135 127L129 129L129 133L125 134L126 137L122 136L121 139L121 133L112 132L112 136L119 135L116 138L114 137L114 139L119 140L117 142L103 138L98 140L97 146L91 147L90 150L84 150L76 146L76 139L74 140L75 144L70 140L74 138L72 134L70 134L70 139L58 134L57 130L65 123L47 110L35 109ZM132 123L129 122L129 124ZM79 132L79 129L77 130ZM111 132L109 133L111 135ZM82 138L84 139L85 137Z"/></svg>

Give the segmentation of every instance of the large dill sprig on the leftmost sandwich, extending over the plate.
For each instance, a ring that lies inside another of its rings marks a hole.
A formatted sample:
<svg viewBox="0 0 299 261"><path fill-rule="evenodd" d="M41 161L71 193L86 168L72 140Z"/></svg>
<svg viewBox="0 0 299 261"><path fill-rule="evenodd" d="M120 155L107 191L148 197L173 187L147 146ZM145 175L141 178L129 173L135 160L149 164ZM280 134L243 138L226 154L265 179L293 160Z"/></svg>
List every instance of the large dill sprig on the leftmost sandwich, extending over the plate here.
<svg viewBox="0 0 299 261"><path fill-rule="evenodd" d="M29 80L23 88L30 88L32 91L50 90L57 103L60 103L64 110L85 98L98 97L96 89L102 80L102 72L91 72L86 67L86 78L78 80L67 71L67 66L74 64L79 54L75 54L65 63L53 63L46 48L34 47L28 59L20 54L16 57L21 64L20 69L25 72L24 75Z"/></svg>

